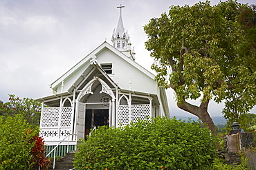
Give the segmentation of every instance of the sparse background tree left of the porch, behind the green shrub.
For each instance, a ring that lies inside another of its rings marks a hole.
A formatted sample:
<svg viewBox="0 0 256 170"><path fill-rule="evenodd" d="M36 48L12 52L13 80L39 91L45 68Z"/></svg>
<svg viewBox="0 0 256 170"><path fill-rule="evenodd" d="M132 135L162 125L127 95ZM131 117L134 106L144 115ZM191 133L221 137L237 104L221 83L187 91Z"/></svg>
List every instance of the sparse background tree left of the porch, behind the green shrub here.
<svg viewBox="0 0 256 170"><path fill-rule="evenodd" d="M8 102L0 102L0 115L15 116L21 114L30 125L39 125L41 103L31 98L19 98L13 94L9 95Z"/></svg>

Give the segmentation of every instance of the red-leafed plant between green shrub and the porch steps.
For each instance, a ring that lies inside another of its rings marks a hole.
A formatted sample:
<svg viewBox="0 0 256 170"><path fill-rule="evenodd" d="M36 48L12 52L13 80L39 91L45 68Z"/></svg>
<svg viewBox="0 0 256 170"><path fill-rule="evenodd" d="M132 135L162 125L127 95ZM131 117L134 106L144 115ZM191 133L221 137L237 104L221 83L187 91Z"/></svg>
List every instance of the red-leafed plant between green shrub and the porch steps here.
<svg viewBox="0 0 256 170"><path fill-rule="evenodd" d="M33 169L48 169L51 161L45 156L44 138L40 136L34 136L32 142L35 142L33 149L31 150L32 161L34 163Z"/></svg>

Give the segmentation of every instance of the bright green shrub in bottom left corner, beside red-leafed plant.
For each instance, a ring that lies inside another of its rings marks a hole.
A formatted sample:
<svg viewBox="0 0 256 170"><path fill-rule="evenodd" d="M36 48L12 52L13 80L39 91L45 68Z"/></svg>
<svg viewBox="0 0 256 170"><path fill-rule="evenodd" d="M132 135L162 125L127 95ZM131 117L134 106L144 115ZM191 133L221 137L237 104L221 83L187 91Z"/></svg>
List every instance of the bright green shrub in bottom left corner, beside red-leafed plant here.
<svg viewBox="0 0 256 170"><path fill-rule="evenodd" d="M23 116L0 116L0 169L30 169L33 166L31 149L38 129L30 131L31 125Z"/></svg>

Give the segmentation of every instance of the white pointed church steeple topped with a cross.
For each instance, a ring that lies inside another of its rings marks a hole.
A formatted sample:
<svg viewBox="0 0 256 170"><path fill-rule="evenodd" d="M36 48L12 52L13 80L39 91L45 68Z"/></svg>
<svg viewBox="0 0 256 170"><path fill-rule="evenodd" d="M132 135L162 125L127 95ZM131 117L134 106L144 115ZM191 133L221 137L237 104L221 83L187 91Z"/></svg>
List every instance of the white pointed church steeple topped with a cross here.
<svg viewBox="0 0 256 170"><path fill-rule="evenodd" d="M118 6L120 8L120 17L116 30L113 30L112 39L113 47L116 47L120 52L124 53L129 59L135 60L134 50L131 50L131 40L129 38L128 31L125 32L124 24L122 23L122 8L125 6Z"/></svg>

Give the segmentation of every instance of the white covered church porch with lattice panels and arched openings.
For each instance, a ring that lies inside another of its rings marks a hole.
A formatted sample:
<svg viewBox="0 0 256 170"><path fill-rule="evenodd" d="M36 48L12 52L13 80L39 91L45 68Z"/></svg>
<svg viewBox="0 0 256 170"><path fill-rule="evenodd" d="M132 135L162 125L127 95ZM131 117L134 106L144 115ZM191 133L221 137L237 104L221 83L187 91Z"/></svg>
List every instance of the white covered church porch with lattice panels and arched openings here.
<svg viewBox="0 0 256 170"><path fill-rule="evenodd" d="M57 145L62 140L62 145L77 145L79 138L86 138L93 127L120 127L138 119L159 116L156 115L159 107L149 94L112 91L116 98L101 94L96 97L100 100L95 100L93 95L97 93L82 95L82 91L76 95L64 93L44 98L42 104L51 103L53 107L42 107L40 136L47 145ZM74 135L68 136L70 134Z"/></svg>

